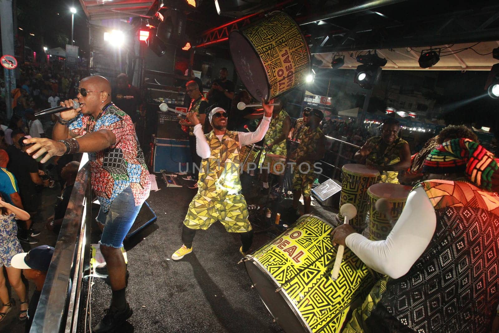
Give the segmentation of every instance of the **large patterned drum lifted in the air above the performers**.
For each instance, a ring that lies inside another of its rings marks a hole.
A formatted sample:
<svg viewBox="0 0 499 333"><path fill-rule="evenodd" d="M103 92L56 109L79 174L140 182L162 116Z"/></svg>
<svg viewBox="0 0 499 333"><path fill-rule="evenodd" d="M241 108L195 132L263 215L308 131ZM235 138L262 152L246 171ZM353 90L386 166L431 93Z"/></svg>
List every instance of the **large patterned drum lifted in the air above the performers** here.
<svg viewBox="0 0 499 333"><path fill-rule="evenodd" d="M229 36L239 77L257 100L271 99L305 82L310 72L308 45L296 22L274 12Z"/></svg>

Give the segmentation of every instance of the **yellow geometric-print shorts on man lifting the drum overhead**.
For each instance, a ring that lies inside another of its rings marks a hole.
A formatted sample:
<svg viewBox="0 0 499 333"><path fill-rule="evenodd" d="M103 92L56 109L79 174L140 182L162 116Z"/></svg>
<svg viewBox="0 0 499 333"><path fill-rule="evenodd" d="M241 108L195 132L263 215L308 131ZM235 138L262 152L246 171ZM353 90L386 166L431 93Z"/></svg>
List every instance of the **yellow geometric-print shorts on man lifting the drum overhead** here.
<svg viewBox="0 0 499 333"><path fill-rule="evenodd" d="M250 231L246 199L242 194L227 195L221 198L208 198L196 194L187 211L184 224L190 229L208 229L220 221L230 233Z"/></svg>

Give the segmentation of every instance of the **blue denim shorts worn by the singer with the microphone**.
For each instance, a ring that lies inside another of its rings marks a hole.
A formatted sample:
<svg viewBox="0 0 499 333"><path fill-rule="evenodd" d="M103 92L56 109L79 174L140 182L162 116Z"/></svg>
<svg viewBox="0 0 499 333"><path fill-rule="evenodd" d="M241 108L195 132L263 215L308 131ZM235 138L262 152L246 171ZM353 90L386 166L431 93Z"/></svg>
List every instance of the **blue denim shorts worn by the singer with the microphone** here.
<svg viewBox="0 0 499 333"><path fill-rule="evenodd" d="M135 206L130 186L118 194L107 212L104 212L101 207L96 219L98 223L104 225L99 243L116 249L121 248L141 207L142 204Z"/></svg>

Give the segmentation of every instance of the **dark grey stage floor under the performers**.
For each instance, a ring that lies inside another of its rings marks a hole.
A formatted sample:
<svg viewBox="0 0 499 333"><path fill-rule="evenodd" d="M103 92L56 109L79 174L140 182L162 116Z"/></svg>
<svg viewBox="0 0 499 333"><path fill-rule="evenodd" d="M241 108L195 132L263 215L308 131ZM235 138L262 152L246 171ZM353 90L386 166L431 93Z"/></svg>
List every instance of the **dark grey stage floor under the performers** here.
<svg viewBox="0 0 499 333"><path fill-rule="evenodd" d="M264 200L251 186L252 178L243 177L249 204ZM238 265L242 258L239 236L227 233L220 223L198 231L192 254L179 261L170 260L182 246L182 222L196 190L167 188L159 174L157 183L160 190L151 192L147 200L157 221L125 242L130 272L127 298L134 314L120 331L283 332L251 288L244 264ZM290 205L289 199L282 203L284 219L285 207ZM321 207L314 210L324 218L334 215ZM252 249L272 238L269 233L256 234ZM95 278L93 282L91 323L87 321L86 332L102 318L111 298L104 280Z"/></svg>

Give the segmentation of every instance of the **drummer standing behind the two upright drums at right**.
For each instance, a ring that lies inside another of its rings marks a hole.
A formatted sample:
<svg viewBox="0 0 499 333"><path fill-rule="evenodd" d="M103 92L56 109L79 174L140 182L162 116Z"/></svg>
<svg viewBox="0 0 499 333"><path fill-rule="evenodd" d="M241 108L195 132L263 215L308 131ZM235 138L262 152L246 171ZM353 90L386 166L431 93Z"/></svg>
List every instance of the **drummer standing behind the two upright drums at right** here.
<svg viewBox="0 0 499 333"><path fill-rule="evenodd" d="M398 136L400 124L388 118L381 127L381 136L373 136L355 153L357 163L380 172L382 183L398 184L399 171L411 165L411 151L406 140Z"/></svg>

